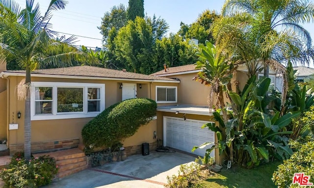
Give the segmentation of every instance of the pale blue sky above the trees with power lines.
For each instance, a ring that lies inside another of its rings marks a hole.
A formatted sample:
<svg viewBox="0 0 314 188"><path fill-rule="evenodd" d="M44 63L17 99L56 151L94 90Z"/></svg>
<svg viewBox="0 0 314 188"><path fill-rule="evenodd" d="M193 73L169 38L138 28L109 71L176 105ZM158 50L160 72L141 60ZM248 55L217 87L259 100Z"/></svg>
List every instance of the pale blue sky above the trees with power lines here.
<svg viewBox="0 0 314 188"><path fill-rule="evenodd" d="M16 0L22 8L25 0ZM100 30L101 17L114 5L120 3L128 6L129 0L68 0L65 10L53 12L51 23L53 30L74 35L102 39ZM314 0L311 0L314 1ZM44 13L50 0L35 0L39 2ZM169 24L169 32L177 32L180 22L191 24L204 10L215 10L220 13L224 0L144 0L145 13L148 16L161 17ZM310 31L314 40L314 24L304 26ZM62 34L62 33L60 33ZM64 35L64 34L62 34ZM70 35L66 35L67 37ZM77 45L101 47L102 41L78 37Z"/></svg>

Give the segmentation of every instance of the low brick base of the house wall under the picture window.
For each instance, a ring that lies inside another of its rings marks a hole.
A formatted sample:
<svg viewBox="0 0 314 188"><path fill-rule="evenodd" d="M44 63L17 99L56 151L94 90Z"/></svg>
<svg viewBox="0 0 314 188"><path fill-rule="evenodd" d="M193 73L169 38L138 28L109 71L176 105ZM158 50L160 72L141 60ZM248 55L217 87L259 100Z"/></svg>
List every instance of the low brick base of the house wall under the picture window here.
<svg viewBox="0 0 314 188"><path fill-rule="evenodd" d="M59 149L70 149L78 147L79 139L67 139L67 140L55 140L49 142L35 142L31 143L31 152L39 153L39 152L50 152L56 151ZM16 152L24 150L24 144L10 145L10 155L15 154Z"/></svg>

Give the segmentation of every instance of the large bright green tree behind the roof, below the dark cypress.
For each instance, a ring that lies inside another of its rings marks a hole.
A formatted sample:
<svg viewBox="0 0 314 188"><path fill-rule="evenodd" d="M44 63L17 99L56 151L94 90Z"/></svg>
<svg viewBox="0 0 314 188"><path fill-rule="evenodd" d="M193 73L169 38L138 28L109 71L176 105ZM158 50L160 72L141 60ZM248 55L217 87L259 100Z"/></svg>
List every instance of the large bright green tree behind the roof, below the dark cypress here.
<svg viewBox="0 0 314 188"><path fill-rule="evenodd" d="M156 41L164 36L167 29L168 25L160 18L156 20L137 17L134 22L129 21L114 39L116 60L123 63L128 71L153 73Z"/></svg>

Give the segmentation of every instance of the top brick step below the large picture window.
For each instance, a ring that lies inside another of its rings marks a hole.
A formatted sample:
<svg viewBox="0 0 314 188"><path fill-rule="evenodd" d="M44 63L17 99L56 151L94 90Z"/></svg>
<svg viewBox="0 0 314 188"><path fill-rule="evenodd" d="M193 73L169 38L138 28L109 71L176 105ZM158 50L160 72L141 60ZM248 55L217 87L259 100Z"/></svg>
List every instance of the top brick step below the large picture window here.
<svg viewBox="0 0 314 188"><path fill-rule="evenodd" d="M84 157L85 153L79 150L78 148L73 148L73 149L67 149L67 150L60 150L56 152L34 154L33 156L39 157L43 155L49 155L50 157L53 157L56 161L61 161L65 159Z"/></svg>

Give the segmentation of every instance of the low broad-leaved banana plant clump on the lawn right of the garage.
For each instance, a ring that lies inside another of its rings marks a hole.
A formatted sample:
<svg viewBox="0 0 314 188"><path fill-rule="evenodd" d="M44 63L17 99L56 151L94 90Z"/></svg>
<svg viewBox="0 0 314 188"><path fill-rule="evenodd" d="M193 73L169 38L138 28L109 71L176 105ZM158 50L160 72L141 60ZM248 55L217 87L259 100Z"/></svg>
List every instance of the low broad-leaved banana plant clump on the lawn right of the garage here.
<svg viewBox="0 0 314 188"><path fill-rule="evenodd" d="M230 119L225 123L217 110L213 115L219 126L203 126L216 133L218 141L215 144L220 155L224 153L229 160L250 167L259 165L261 161L268 161L269 156L287 159L292 154L288 138L285 136L292 132L284 129L300 112L280 116L278 111L269 115L266 107L275 99L266 94L269 84L269 78L256 81L256 77L252 77L240 94L228 91L233 103ZM212 143L204 143L193 149L209 144ZM211 150L212 148L209 148L207 153Z"/></svg>

